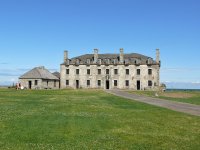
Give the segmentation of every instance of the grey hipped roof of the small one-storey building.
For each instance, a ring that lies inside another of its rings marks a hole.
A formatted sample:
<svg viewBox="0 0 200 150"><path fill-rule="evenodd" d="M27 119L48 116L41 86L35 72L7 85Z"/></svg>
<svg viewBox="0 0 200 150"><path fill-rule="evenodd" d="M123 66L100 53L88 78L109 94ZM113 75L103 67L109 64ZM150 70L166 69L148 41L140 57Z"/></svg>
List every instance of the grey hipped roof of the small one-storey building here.
<svg viewBox="0 0 200 150"><path fill-rule="evenodd" d="M58 77L53 75L50 71L42 67L35 67L32 70L26 72L19 79L49 79L49 80L59 80Z"/></svg>

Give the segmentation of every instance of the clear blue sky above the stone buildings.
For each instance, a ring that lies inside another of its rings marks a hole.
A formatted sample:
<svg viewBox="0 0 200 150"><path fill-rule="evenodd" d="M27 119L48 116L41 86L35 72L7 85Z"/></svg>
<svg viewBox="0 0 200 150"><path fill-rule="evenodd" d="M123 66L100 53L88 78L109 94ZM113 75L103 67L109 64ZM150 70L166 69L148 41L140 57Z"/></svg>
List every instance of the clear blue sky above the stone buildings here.
<svg viewBox="0 0 200 150"><path fill-rule="evenodd" d="M161 82L200 88L199 16L199 0L0 0L0 85L36 66L59 71L65 49L155 58L159 48Z"/></svg>

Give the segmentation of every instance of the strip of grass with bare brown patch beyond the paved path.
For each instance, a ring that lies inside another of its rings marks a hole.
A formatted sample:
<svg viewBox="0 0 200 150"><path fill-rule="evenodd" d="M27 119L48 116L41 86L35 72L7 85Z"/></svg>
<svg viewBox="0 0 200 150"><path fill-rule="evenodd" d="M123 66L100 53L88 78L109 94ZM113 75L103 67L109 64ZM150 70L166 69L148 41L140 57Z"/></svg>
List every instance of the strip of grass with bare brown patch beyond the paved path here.
<svg viewBox="0 0 200 150"><path fill-rule="evenodd" d="M155 97L155 91L128 91L130 93ZM158 92L158 98L167 99L172 101L190 103L200 105L200 92L199 91L166 91Z"/></svg>

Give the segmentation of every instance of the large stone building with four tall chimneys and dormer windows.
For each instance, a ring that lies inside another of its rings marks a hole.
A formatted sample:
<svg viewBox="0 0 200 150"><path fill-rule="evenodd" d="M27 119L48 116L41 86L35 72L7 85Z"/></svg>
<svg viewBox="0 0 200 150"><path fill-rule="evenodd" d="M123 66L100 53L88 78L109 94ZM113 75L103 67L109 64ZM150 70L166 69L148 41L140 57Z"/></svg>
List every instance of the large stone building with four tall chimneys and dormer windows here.
<svg viewBox="0 0 200 150"><path fill-rule="evenodd" d="M64 51L64 62L60 65L61 88L100 89L158 89L160 81L160 52L156 59L137 53L85 54L72 59Z"/></svg>

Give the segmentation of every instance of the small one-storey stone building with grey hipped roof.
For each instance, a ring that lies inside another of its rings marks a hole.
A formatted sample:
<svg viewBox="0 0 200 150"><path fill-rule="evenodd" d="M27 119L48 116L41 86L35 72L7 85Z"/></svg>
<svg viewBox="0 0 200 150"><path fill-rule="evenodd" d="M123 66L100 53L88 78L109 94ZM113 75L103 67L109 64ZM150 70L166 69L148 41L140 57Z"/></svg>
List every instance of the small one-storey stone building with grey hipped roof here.
<svg viewBox="0 0 200 150"><path fill-rule="evenodd" d="M21 86L27 89L59 89L59 78L42 67L36 67L19 77Z"/></svg>

